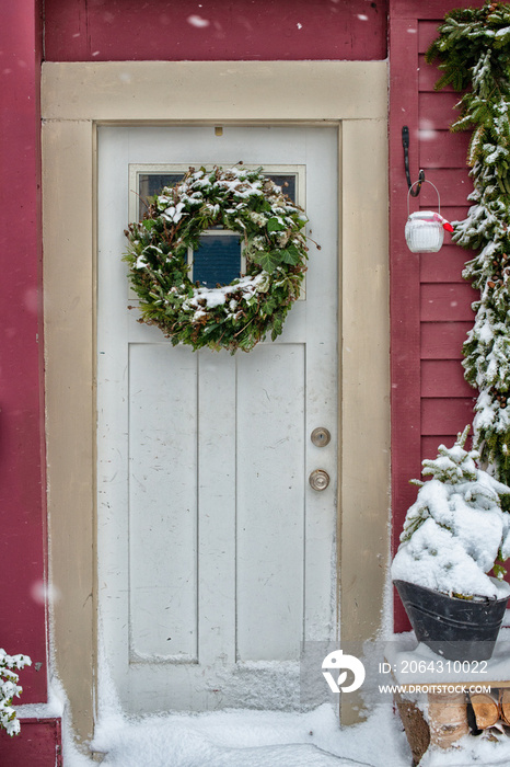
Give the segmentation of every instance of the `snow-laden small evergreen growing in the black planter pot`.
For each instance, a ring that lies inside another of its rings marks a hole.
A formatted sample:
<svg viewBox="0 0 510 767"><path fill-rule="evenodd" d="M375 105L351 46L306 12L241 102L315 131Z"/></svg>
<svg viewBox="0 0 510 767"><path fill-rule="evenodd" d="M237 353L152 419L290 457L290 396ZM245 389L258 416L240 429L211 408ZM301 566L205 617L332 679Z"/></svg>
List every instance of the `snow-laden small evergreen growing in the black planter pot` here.
<svg viewBox="0 0 510 767"><path fill-rule="evenodd" d="M453 447L424 460L420 489L407 512L392 576L444 594L502 598L510 586L502 566L510 557L510 514L501 497L510 488L477 468L477 450L464 449L468 426ZM497 577L487 573L494 571Z"/></svg>

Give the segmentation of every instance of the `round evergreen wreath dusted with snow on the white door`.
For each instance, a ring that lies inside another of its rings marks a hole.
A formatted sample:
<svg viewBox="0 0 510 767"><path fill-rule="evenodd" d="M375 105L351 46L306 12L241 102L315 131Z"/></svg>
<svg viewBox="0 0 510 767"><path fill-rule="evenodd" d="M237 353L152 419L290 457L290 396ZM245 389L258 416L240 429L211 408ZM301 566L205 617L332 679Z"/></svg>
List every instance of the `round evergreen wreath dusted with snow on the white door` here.
<svg viewBox="0 0 510 767"><path fill-rule="evenodd" d="M306 220L262 168L189 168L182 181L150 198L143 220L125 232L139 322L158 325L173 345L194 351L248 352L269 331L274 341L300 295ZM239 232L246 273L209 288L190 281L188 252L212 227Z"/></svg>

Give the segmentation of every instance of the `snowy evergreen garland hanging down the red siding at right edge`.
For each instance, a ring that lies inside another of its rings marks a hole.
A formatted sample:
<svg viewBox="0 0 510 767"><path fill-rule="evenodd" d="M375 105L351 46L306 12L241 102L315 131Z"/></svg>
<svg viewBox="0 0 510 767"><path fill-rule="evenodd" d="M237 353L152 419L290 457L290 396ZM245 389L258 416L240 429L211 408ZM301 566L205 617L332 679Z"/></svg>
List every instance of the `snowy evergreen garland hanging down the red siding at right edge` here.
<svg viewBox="0 0 510 767"><path fill-rule="evenodd" d="M453 241L479 251L463 276L480 291L463 352L478 389L474 440L482 460L510 483L510 4L448 13L426 60L440 60L436 89L465 91L452 130L473 130L467 156L474 203Z"/></svg>

